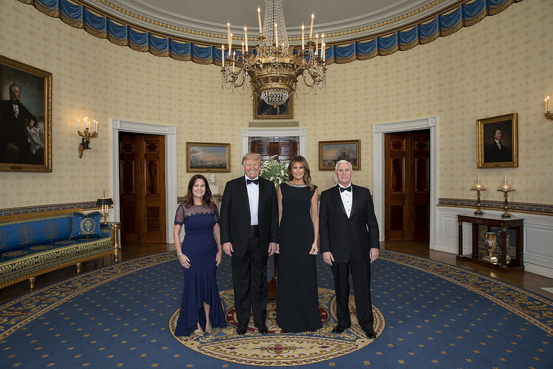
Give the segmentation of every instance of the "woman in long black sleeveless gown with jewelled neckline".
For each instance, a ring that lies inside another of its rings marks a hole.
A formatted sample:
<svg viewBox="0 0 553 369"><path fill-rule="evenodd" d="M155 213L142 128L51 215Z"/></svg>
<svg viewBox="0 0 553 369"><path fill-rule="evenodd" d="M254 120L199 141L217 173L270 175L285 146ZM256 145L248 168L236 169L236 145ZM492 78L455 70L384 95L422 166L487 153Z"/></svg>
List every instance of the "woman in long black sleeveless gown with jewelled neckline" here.
<svg viewBox="0 0 553 369"><path fill-rule="evenodd" d="M315 260L318 190L303 156L290 161L288 180L278 188L277 323L283 332L314 331L322 327Z"/></svg>

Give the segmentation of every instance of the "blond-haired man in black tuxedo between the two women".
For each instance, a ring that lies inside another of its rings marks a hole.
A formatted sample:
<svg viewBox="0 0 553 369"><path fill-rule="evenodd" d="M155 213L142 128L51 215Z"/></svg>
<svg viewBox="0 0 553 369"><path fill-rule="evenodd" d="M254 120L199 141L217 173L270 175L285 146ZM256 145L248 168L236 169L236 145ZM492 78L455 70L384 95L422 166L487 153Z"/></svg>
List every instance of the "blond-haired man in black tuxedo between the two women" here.
<svg viewBox="0 0 553 369"><path fill-rule="evenodd" d="M242 158L244 177L228 181L221 201L221 243L231 257L237 334L253 323L266 334L267 258L278 240L278 202L275 185L260 178L261 156Z"/></svg>

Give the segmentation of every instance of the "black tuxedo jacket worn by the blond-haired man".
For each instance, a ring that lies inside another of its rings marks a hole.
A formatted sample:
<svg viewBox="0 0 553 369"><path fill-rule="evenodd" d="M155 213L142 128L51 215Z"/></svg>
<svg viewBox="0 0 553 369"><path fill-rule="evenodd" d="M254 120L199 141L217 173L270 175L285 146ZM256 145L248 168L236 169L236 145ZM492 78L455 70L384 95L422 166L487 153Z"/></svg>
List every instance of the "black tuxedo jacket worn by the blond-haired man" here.
<svg viewBox="0 0 553 369"><path fill-rule="evenodd" d="M262 253L269 253L269 242L278 242L278 202L273 182L260 177L257 219ZM246 178L228 181L219 214L221 244L232 242L235 255L244 257L250 239L250 203Z"/></svg>

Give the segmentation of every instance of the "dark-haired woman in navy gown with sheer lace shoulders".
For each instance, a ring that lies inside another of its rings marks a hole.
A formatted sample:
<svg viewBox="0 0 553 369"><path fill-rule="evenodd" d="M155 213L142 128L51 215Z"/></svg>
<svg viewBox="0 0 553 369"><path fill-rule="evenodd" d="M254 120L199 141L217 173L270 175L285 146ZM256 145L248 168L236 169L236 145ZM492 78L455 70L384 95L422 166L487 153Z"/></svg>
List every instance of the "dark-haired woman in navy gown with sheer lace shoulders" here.
<svg viewBox="0 0 553 369"><path fill-rule="evenodd" d="M181 246L181 228L185 235ZM221 262L219 212L206 177L194 175L184 202L174 217L174 246L183 267L184 287L175 336L210 334L225 327L225 316L215 273Z"/></svg>

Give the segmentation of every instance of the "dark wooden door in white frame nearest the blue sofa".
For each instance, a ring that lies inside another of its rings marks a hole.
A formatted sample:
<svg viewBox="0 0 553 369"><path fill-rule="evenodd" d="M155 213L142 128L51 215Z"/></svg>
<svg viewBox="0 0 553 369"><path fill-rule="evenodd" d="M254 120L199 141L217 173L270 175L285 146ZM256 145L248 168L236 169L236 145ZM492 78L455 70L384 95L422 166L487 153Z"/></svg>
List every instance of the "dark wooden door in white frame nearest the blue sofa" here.
<svg viewBox="0 0 553 369"><path fill-rule="evenodd" d="M165 242L165 136L120 132L122 242Z"/></svg>

